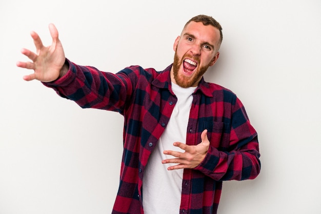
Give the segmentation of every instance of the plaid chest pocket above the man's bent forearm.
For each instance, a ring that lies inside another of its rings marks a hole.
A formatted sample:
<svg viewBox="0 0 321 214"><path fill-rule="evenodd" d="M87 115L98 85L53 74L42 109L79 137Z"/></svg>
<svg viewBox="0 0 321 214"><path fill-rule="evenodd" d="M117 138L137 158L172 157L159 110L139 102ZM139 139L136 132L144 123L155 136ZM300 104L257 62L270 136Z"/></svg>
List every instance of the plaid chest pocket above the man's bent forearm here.
<svg viewBox="0 0 321 214"><path fill-rule="evenodd" d="M230 139L230 124L216 121L204 121L203 130L207 129L207 138L211 146L225 150Z"/></svg>

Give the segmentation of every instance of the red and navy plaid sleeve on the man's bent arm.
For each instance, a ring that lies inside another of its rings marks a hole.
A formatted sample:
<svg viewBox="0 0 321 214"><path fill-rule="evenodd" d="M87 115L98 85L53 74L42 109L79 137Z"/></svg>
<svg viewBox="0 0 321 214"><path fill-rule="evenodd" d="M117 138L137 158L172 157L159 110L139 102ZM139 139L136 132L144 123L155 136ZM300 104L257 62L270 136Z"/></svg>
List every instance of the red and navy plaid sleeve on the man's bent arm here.
<svg viewBox="0 0 321 214"><path fill-rule="evenodd" d="M236 99L231 114L227 149L209 147L196 168L216 181L254 179L260 172L257 133L250 124L242 103Z"/></svg>

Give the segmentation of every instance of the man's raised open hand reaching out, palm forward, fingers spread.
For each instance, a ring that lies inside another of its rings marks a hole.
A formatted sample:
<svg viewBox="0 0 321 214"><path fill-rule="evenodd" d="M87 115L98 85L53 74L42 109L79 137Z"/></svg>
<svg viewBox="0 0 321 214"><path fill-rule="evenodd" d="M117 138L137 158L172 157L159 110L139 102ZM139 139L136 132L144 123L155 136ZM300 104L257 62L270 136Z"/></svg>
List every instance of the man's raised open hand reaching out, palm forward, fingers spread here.
<svg viewBox="0 0 321 214"><path fill-rule="evenodd" d="M49 31L52 37L51 46L45 47L39 35L32 31L30 34L36 47L36 53L28 49L21 50L32 62L17 62L16 65L34 70L34 73L24 76L26 81L51 82L63 76L68 70L64 66L66 58L63 46L58 38L58 31L53 24L49 25Z"/></svg>

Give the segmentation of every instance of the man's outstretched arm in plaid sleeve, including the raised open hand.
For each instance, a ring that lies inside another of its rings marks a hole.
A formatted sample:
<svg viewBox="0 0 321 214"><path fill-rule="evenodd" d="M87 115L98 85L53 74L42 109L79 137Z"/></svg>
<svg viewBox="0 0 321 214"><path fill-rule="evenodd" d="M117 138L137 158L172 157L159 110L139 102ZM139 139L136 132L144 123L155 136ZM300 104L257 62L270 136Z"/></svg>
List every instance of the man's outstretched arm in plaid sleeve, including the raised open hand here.
<svg viewBox="0 0 321 214"><path fill-rule="evenodd" d="M32 62L17 62L16 65L34 70L34 73L25 75L24 80L41 81L83 108L122 111L128 94L131 94L131 83L126 72L116 76L71 63L65 57L56 27L50 24L49 30L51 46L45 47L39 35L31 32L36 52L22 49L22 53Z"/></svg>

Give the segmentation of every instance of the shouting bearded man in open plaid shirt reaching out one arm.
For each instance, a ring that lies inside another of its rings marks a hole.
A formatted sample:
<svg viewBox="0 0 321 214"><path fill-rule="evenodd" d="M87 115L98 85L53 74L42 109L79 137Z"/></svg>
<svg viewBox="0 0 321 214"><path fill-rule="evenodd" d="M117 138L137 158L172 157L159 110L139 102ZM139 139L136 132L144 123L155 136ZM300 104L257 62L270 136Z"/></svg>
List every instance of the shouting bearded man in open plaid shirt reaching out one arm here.
<svg viewBox="0 0 321 214"><path fill-rule="evenodd" d="M260 171L257 134L230 90L206 83L216 63L222 27L212 17L188 21L174 42L174 62L162 72L131 66L116 74L65 58L54 25L52 45L31 36L23 49L39 80L83 108L124 115L121 182L112 213L216 213L222 181L254 179Z"/></svg>

